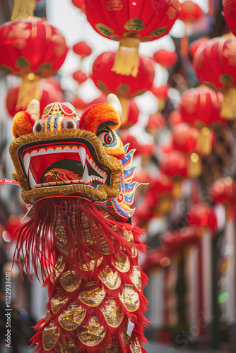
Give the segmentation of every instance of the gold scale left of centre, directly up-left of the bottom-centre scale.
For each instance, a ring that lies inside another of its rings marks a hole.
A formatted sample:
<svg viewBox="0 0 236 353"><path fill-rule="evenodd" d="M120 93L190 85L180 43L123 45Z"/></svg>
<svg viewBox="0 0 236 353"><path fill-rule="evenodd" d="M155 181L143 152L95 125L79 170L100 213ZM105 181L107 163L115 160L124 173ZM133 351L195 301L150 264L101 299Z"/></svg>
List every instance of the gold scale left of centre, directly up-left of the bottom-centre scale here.
<svg viewBox="0 0 236 353"><path fill-rule="evenodd" d="M73 331L78 328L86 314L86 309L78 306L77 303L71 303L66 310L59 316L59 324L66 331Z"/></svg>

